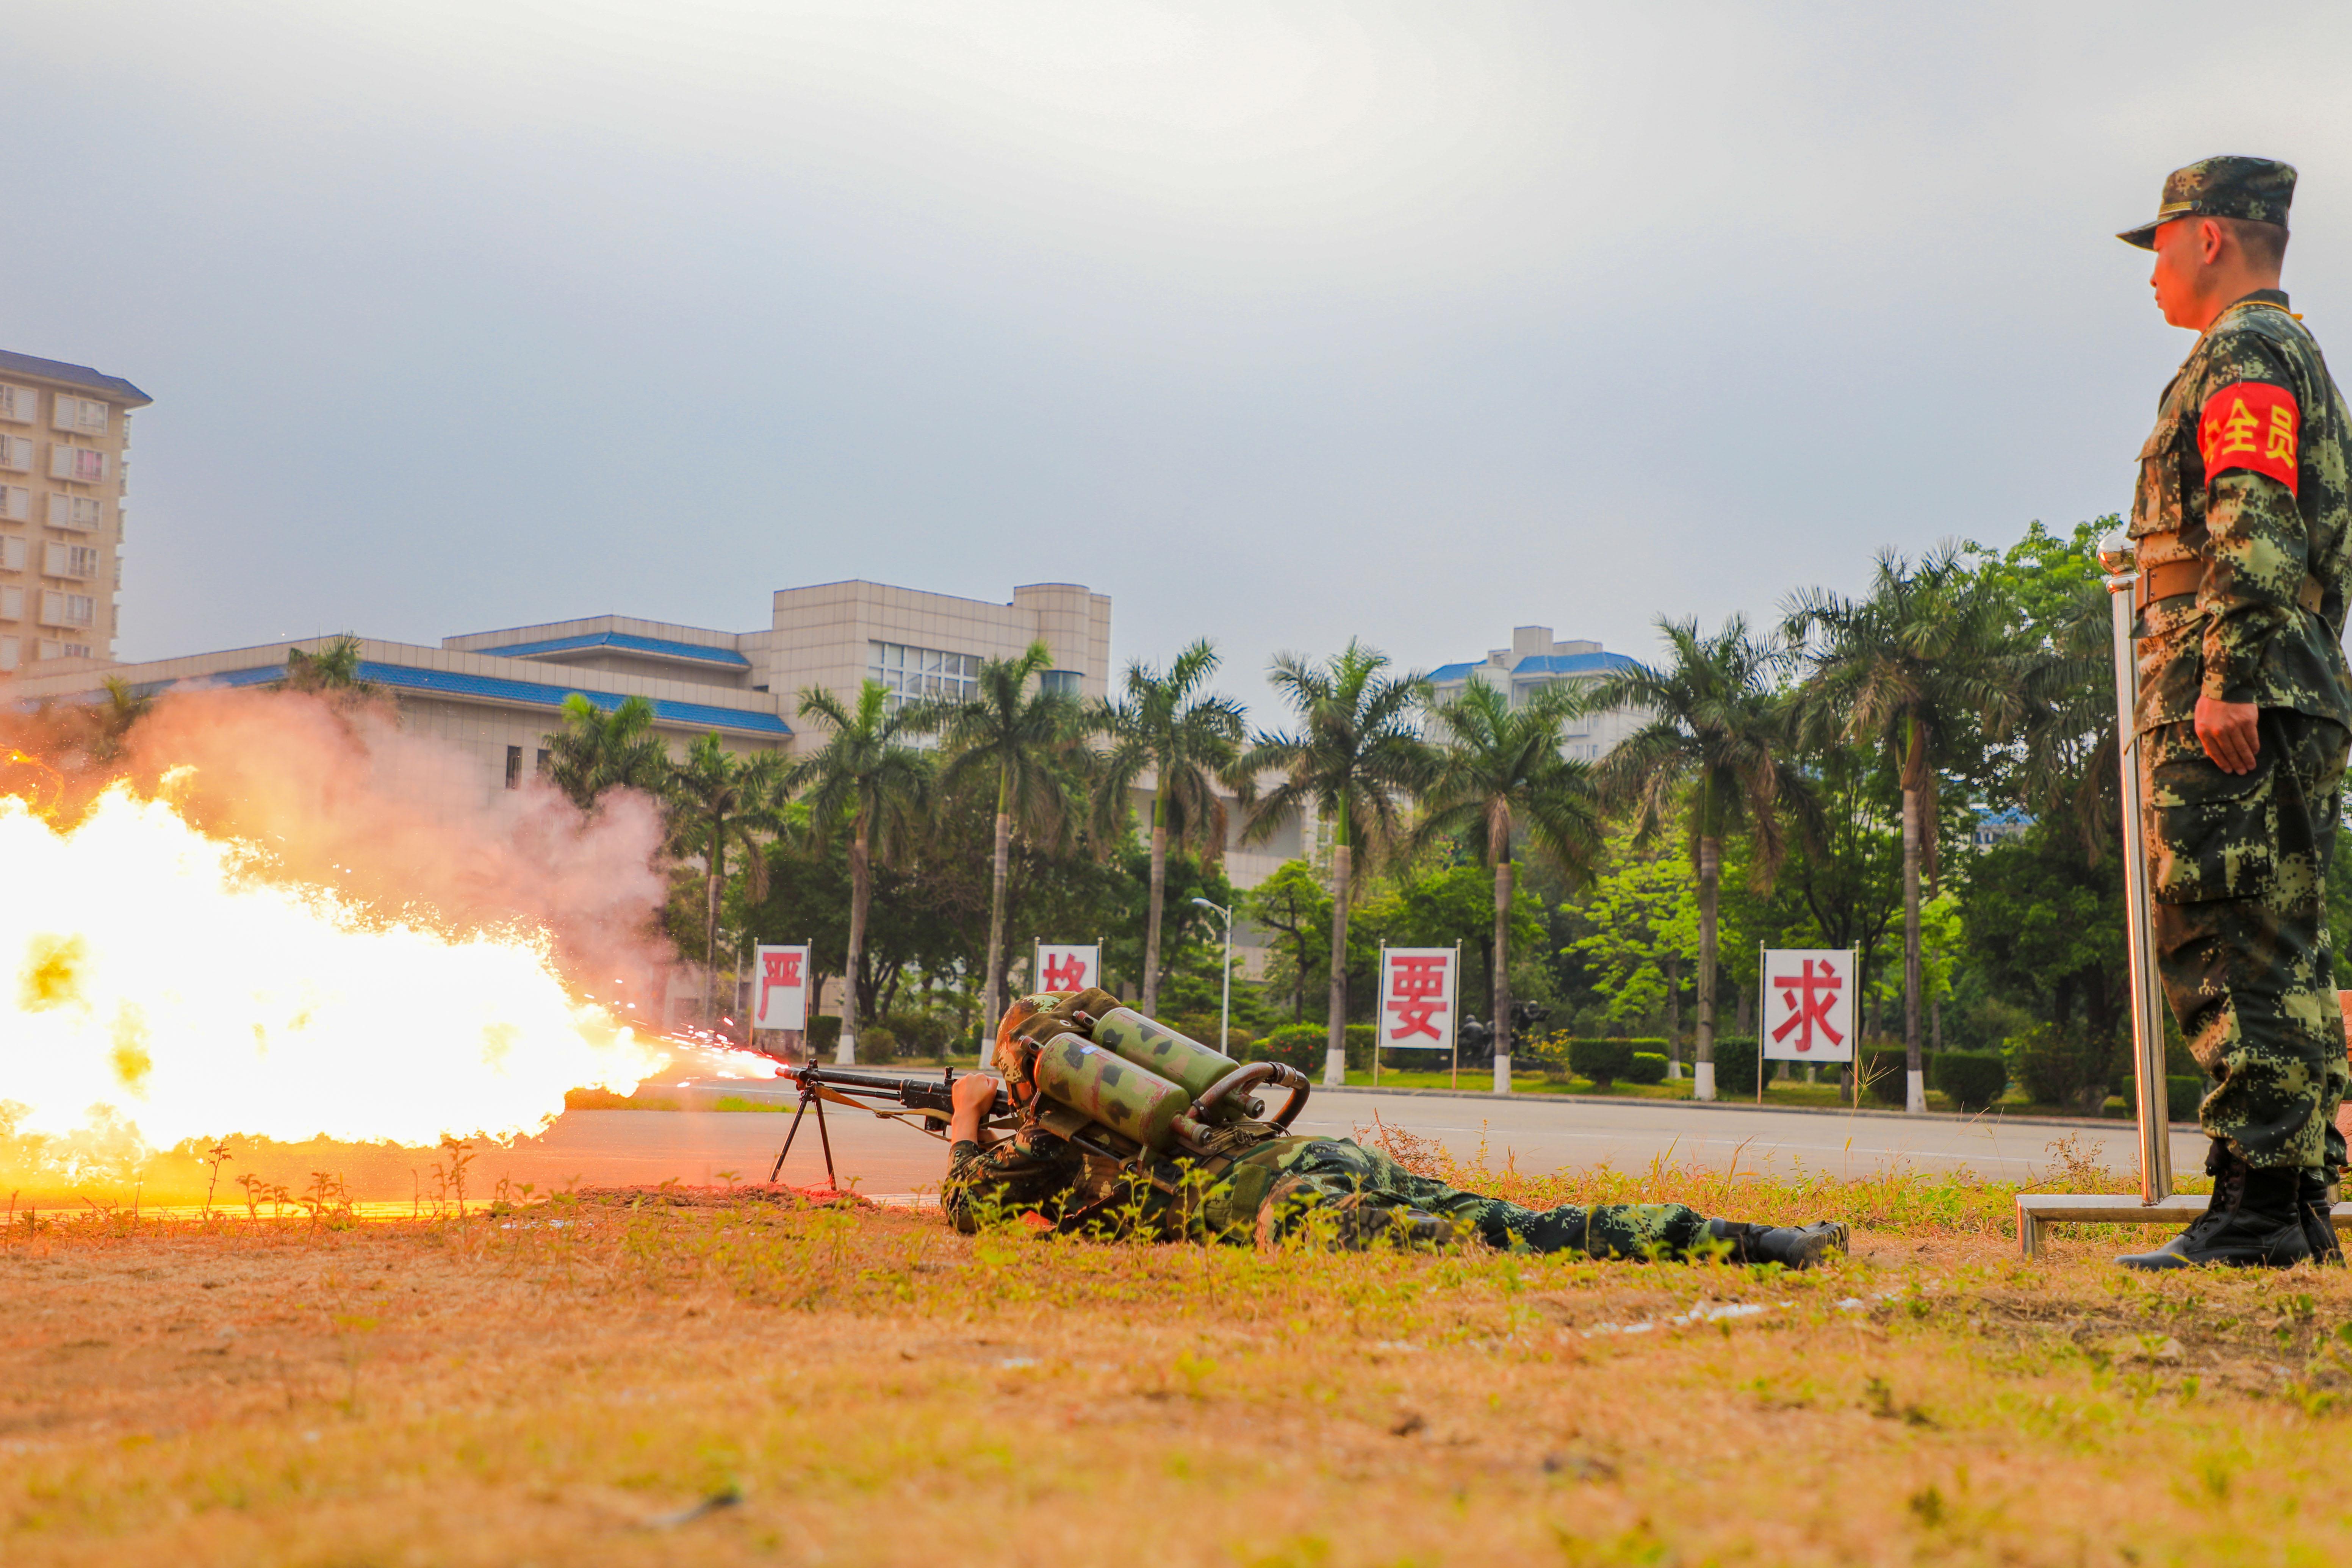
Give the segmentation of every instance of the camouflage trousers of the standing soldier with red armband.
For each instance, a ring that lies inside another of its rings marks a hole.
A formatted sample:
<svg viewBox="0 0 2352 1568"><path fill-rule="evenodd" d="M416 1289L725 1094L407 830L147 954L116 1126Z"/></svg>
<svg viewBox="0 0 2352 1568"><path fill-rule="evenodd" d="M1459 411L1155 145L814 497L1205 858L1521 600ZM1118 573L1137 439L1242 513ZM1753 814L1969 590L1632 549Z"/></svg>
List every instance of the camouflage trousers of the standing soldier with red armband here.
<svg viewBox="0 0 2352 1568"><path fill-rule="evenodd" d="M2343 1168L2345 1034L2326 877L2345 731L2265 708L2253 773L2223 773L2194 724L2140 738L2157 966L2218 1079L2199 1107L2249 1166Z"/></svg>

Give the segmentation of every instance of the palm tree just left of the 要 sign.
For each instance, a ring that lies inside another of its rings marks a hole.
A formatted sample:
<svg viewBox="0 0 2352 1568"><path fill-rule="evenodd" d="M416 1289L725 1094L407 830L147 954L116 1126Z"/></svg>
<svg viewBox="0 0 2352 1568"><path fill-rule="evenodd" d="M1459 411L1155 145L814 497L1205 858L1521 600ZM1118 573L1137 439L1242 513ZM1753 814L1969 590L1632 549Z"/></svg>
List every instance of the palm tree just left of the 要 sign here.
<svg viewBox="0 0 2352 1568"><path fill-rule="evenodd" d="M1428 682L1421 672L1383 677L1388 656L1350 642L1322 665L1275 658L1270 679L1298 715L1298 733L1261 736L1240 773L1287 778L1258 799L1244 839L1263 842L1291 813L1331 825L1331 1032L1324 1084L1348 1079L1348 889L1397 839L1402 802L1435 776L1435 755L1414 729ZM1364 849L1357 860L1355 849Z"/></svg>

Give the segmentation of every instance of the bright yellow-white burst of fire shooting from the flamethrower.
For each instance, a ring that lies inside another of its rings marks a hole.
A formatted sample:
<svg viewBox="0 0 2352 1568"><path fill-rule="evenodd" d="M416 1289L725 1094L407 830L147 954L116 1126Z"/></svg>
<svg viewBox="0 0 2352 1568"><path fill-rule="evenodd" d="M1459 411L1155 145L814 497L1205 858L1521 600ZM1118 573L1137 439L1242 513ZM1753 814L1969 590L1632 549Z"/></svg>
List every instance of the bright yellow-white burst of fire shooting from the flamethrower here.
<svg viewBox="0 0 2352 1568"><path fill-rule="evenodd" d="M541 933L437 931L270 877L113 785L68 830L0 797L0 1131L430 1145L541 1131L670 1056L576 1001Z"/></svg>

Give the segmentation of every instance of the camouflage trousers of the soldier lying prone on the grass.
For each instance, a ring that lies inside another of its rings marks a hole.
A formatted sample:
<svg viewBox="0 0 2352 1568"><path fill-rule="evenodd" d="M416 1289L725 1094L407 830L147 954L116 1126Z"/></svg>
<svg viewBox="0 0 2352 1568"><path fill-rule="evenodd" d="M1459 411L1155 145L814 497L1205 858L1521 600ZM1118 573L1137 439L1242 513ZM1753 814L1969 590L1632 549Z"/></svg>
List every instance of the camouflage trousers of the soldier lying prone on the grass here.
<svg viewBox="0 0 2352 1568"><path fill-rule="evenodd" d="M1597 1204L1592 1208L1522 1208L1479 1192L1414 1175L1381 1150L1345 1140L1315 1140L1282 1171L1258 1213L1258 1239L1279 1241L1315 1225L1345 1222L1348 1234L1376 1239L1388 1218L1395 1234L1411 1234L1411 1215L1435 1215L1479 1237L1486 1246L1536 1253L1578 1251L1592 1258L1691 1258L1719 1253L1708 1220L1684 1204ZM1703 1246L1705 1244L1705 1246Z"/></svg>

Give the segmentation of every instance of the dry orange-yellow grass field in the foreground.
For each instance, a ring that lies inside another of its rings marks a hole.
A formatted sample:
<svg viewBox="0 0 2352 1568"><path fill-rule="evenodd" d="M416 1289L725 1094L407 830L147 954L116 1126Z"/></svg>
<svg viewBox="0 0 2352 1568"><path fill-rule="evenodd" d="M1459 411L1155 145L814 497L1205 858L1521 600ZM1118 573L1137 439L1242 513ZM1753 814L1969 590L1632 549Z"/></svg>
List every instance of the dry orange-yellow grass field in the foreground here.
<svg viewBox="0 0 2352 1568"><path fill-rule="evenodd" d="M1969 1180L1482 1175L1863 1229L1788 1276L964 1239L764 1190L19 1213L0 1561L2352 1552L2345 1272L2126 1276L2082 1229L2020 1265Z"/></svg>

